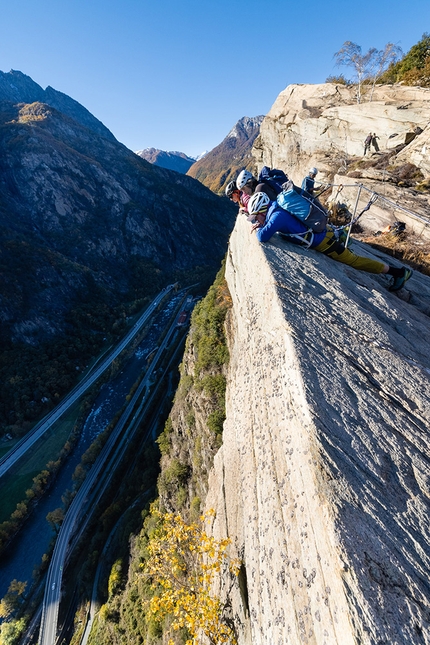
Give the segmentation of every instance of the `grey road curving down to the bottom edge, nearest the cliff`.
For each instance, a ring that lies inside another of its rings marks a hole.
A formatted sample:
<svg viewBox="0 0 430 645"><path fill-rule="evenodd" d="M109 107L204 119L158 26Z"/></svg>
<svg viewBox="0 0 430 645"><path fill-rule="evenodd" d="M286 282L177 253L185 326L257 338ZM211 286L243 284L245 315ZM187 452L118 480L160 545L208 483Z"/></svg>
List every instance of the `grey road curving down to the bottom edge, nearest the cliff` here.
<svg viewBox="0 0 430 645"><path fill-rule="evenodd" d="M175 317L175 320L168 328L144 378L66 513L47 574L39 636L40 645L55 645L56 643L61 583L67 558L82 536L91 513L109 485L115 469L128 448L132 435L139 428L142 416L155 395L154 392L149 394L151 378L157 369L164 350L174 338L177 319L178 316Z"/></svg>

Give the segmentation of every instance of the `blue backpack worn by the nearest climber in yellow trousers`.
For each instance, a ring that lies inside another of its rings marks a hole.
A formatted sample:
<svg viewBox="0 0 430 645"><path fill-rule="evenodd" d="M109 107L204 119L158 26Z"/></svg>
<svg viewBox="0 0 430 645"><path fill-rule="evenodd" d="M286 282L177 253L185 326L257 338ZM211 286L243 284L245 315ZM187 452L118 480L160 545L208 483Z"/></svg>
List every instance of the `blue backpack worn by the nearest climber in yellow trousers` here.
<svg viewBox="0 0 430 645"><path fill-rule="evenodd" d="M303 188L289 182L277 197L278 205L294 215L314 233L321 233L327 226L328 214L320 202Z"/></svg>

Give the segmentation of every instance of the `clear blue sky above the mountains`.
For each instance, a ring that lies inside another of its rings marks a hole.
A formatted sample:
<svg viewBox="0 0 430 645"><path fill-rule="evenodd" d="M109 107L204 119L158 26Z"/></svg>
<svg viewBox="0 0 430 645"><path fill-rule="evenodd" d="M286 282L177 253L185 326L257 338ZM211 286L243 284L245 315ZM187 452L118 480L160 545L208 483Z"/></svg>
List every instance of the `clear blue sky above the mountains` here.
<svg viewBox="0 0 430 645"><path fill-rule="evenodd" d="M68 94L132 150L196 156L290 83L348 76L344 41L406 53L429 30L429 0L7 0L0 69Z"/></svg>

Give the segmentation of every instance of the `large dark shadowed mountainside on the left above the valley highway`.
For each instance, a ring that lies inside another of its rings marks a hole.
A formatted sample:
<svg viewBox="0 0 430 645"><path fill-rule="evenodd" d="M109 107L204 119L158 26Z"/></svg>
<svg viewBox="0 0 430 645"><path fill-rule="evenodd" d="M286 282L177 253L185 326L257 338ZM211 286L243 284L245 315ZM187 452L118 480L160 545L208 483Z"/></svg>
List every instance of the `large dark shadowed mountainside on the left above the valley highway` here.
<svg viewBox="0 0 430 645"><path fill-rule="evenodd" d="M34 101L24 80L29 94L17 83L19 99L0 101L0 420L17 432L145 298L211 281L235 215L95 119Z"/></svg>

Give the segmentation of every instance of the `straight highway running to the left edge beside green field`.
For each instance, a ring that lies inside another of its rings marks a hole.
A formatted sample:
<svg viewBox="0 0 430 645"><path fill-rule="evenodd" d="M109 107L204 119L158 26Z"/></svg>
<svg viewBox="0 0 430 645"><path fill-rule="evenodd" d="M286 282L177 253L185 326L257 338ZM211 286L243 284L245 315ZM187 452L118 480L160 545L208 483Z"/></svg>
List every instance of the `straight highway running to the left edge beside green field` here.
<svg viewBox="0 0 430 645"><path fill-rule="evenodd" d="M169 285L165 287L156 298L152 301L149 307L144 311L141 317L135 322L133 327L129 332L124 336L124 338L118 343L115 349L106 356L100 365L94 370L89 372L82 381L73 388L66 395L66 397L55 407L51 412L49 412L34 428L19 441L13 449L4 455L0 459L0 478L7 473L7 471L29 450L35 443L38 441L43 434L52 426L52 424L61 417L68 408L79 399L86 390L91 387L91 385L97 381L97 379L105 372L112 361L123 351L123 349L129 344L129 342L136 336L140 331L142 326L146 323L148 318L152 315L155 309L158 307L163 298L175 287L175 285Z"/></svg>

